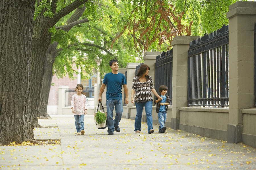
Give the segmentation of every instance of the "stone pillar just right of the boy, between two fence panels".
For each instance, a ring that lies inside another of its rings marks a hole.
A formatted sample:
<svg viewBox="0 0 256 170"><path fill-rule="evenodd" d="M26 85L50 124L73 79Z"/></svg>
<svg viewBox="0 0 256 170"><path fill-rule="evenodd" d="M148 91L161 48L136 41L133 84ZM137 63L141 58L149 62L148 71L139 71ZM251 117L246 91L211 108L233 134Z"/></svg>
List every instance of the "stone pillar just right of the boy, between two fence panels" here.
<svg viewBox="0 0 256 170"><path fill-rule="evenodd" d="M176 36L172 41L172 120L171 128L179 129L179 108L187 107L187 55L189 42L198 36Z"/></svg>

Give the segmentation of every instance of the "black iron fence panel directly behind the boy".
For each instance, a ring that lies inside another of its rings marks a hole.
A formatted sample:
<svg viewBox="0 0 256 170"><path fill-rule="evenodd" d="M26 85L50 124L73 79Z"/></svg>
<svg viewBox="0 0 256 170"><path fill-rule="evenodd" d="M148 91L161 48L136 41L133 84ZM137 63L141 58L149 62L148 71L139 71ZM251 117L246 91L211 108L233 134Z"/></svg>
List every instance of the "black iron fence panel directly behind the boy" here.
<svg viewBox="0 0 256 170"><path fill-rule="evenodd" d="M172 105L172 50L163 52L156 57L154 84L158 93L161 85L168 87L167 95L170 97Z"/></svg>

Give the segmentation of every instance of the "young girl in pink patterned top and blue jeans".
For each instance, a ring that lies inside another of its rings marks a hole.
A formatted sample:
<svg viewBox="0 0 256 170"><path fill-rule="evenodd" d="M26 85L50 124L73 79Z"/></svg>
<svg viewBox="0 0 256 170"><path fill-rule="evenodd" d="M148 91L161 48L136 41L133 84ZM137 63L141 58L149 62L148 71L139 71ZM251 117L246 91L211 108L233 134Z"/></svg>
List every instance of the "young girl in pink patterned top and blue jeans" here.
<svg viewBox="0 0 256 170"><path fill-rule="evenodd" d="M71 99L71 109L75 116L77 135L84 135L84 115L87 114L86 96L83 95L83 85L77 84L76 94Z"/></svg>

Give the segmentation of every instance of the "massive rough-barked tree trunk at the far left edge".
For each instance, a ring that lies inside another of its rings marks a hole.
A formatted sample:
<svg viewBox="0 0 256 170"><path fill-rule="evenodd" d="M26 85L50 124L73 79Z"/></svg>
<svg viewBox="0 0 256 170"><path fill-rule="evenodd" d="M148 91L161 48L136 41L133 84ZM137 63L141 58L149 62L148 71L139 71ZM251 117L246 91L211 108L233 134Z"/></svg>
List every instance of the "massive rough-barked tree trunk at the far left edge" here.
<svg viewBox="0 0 256 170"><path fill-rule="evenodd" d="M0 143L34 140L30 59L35 1L0 1Z"/></svg>

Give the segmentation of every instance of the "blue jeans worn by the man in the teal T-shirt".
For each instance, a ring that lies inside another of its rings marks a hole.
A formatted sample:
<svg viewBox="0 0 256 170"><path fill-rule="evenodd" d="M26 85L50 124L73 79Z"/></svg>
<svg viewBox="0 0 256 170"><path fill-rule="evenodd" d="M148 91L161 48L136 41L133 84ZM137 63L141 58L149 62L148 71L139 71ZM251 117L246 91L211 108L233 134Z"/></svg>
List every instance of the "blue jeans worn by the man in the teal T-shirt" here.
<svg viewBox="0 0 256 170"><path fill-rule="evenodd" d="M123 115L123 100L122 99L107 99L107 123L108 132L114 132L114 126L118 126ZM113 111L115 107L115 119L113 120Z"/></svg>

